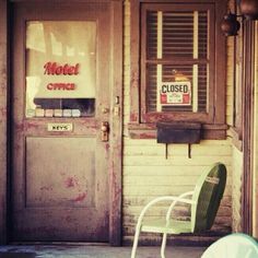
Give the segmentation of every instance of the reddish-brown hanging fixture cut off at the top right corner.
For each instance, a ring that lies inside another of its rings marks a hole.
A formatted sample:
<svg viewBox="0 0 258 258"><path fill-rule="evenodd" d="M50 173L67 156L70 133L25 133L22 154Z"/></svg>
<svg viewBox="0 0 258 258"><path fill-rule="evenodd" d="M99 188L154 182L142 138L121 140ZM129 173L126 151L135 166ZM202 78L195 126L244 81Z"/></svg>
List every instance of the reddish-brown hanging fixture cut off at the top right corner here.
<svg viewBox="0 0 258 258"><path fill-rule="evenodd" d="M238 4L247 20L258 20L258 0L238 0Z"/></svg>

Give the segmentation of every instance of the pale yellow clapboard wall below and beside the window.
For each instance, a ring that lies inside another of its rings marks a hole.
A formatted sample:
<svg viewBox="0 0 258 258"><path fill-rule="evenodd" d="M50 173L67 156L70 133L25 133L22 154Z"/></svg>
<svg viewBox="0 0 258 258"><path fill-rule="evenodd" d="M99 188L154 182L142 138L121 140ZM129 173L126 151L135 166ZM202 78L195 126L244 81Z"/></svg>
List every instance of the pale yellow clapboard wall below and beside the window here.
<svg viewBox="0 0 258 258"><path fill-rule="evenodd" d="M165 159L165 145L155 140L132 140L127 125L130 112L130 1L125 1L124 37L124 178L122 212L124 242L131 242L137 218L141 208L151 199L163 195L179 195L192 190L198 176L214 162L225 163L228 169L226 191L215 220L215 232L230 231L232 226L232 141L206 140L192 145L192 159L188 159L186 144L168 145ZM232 47L232 46L228 46ZM228 61L228 66L232 62ZM231 68L231 67L230 67ZM231 69L230 69L231 70ZM227 81L227 122L232 124L232 81ZM177 214L184 216L186 207L180 207ZM162 207L153 210L149 218L164 213ZM187 214L189 215L189 214ZM156 239L145 235L143 242Z"/></svg>

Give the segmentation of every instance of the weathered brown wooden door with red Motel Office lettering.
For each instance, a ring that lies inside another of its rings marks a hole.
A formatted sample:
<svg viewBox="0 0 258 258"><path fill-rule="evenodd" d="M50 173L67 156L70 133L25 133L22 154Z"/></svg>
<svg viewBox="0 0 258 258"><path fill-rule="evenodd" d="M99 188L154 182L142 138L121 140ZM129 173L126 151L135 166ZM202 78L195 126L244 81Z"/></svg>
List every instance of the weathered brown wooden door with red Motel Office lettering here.
<svg viewBox="0 0 258 258"><path fill-rule="evenodd" d="M12 31L12 241L108 242L110 3L16 2Z"/></svg>

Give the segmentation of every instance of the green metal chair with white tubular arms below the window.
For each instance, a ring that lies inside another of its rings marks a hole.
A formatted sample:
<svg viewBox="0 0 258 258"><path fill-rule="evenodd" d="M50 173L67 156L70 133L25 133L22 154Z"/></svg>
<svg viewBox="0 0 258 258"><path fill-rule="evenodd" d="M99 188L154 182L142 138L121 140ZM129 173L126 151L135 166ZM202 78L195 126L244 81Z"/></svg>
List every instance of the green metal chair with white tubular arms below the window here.
<svg viewBox="0 0 258 258"><path fill-rule="evenodd" d="M210 230L219 210L225 184L226 167L222 163L215 163L208 172L200 176L194 191L185 192L178 197L159 197L149 202L138 219L131 258L136 257L140 232L163 234L161 257L165 258L167 234L199 233ZM187 197L191 198L188 199ZM144 222L143 218L146 211L161 201L169 202L166 216L161 220ZM180 221L171 218L172 211L178 202L191 206L190 221Z"/></svg>

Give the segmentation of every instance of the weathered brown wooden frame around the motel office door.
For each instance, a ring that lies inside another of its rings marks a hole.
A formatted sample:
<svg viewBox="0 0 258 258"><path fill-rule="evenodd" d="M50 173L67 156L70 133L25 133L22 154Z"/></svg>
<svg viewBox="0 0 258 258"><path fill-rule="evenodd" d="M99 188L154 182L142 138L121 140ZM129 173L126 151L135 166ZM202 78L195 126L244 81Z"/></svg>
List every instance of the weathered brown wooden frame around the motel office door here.
<svg viewBox="0 0 258 258"><path fill-rule="evenodd" d="M10 30L12 2L26 0L0 1L0 244L7 244L11 223L8 220L10 209ZM46 1L46 0L45 0ZM69 1L63 1L69 2ZM71 1L75 3L77 1ZM80 2L80 1L79 1ZM93 2L84 0L84 2ZM121 245L121 169L122 169L122 0L95 0L110 3L110 161L108 164L109 185L109 244Z"/></svg>

